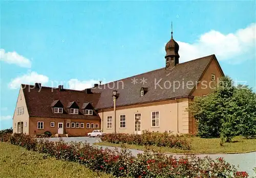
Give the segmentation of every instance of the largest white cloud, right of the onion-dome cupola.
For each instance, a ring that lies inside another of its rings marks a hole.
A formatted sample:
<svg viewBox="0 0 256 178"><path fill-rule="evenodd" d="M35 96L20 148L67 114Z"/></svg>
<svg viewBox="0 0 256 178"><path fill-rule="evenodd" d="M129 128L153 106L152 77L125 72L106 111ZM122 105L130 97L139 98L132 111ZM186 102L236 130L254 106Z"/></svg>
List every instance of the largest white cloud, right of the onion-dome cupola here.
<svg viewBox="0 0 256 178"><path fill-rule="evenodd" d="M180 61L185 62L196 58L215 54L220 61L228 61L235 58L236 62L246 60L241 55L253 54L256 48L256 24L252 23L245 29L239 29L235 33L227 35L211 30L202 34L200 38L192 44L177 41L180 46ZM165 53L165 50L164 50Z"/></svg>

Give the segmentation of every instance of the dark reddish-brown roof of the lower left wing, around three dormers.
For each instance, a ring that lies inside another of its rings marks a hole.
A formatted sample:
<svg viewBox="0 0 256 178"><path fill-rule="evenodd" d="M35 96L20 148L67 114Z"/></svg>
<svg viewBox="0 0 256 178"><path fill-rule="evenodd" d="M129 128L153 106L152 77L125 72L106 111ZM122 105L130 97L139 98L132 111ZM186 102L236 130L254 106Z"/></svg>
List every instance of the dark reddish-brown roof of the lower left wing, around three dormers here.
<svg viewBox="0 0 256 178"><path fill-rule="evenodd" d="M42 117L61 117L61 118L82 118L82 119L100 119L97 115L83 115L82 105L91 103L96 106L100 93L87 94L84 91L64 89L59 91L58 88L41 87L34 88L33 85L22 84L26 104L30 116ZM60 101L63 105L63 114L53 113L52 106ZM75 101L79 107L79 114L68 114L68 107L71 102Z"/></svg>

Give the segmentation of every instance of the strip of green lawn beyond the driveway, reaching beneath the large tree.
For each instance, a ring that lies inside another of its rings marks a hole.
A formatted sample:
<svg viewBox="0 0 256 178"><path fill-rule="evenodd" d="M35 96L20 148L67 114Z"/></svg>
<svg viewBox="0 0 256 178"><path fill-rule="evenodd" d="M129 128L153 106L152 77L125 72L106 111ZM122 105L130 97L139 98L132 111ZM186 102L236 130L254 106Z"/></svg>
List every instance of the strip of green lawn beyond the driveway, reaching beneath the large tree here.
<svg viewBox="0 0 256 178"><path fill-rule="evenodd" d="M235 137L231 143L224 143L224 146L220 146L220 138L200 138L189 137L191 141L190 150L181 150L168 147L150 146L150 148L161 150L163 152L170 153L227 153L227 152L247 152L256 151L256 139L245 139L243 137ZM114 143L95 143L102 146L116 146L121 147L121 144ZM127 148L131 149L145 149L145 146L123 144Z"/></svg>

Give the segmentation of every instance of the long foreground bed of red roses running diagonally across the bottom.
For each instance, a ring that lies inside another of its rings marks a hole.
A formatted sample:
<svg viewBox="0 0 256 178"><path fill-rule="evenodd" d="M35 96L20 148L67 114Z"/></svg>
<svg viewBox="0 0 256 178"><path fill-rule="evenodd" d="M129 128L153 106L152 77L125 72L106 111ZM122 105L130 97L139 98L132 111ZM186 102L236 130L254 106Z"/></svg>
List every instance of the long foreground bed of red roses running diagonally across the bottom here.
<svg viewBox="0 0 256 178"><path fill-rule="evenodd" d="M176 158L161 152L145 151L137 157L125 149L121 151L102 149L88 143L50 142L35 140L22 134L2 135L1 141L48 154L61 160L79 162L86 167L115 175L116 177L248 177L246 172L225 162L222 158L212 160L196 156Z"/></svg>

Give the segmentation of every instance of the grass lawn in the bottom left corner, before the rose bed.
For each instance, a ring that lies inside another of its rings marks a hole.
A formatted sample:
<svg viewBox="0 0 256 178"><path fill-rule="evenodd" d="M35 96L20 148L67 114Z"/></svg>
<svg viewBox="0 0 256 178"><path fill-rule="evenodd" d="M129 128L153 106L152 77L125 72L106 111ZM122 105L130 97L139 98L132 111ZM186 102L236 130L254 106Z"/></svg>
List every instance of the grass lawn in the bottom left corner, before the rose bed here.
<svg viewBox="0 0 256 178"><path fill-rule="evenodd" d="M78 163L49 158L44 154L28 151L10 143L0 142L0 153L0 177L113 177L109 174L93 172Z"/></svg>

